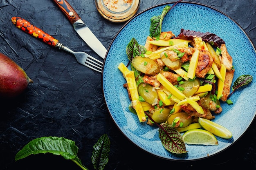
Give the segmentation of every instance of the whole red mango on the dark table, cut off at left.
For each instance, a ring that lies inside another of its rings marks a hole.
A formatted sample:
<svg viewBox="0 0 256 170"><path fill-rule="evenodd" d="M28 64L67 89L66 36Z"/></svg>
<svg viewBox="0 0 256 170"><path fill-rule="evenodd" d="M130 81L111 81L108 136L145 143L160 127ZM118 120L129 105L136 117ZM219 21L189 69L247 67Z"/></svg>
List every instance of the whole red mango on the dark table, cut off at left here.
<svg viewBox="0 0 256 170"><path fill-rule="evenodd" d="M0 53L0 97L20 95L29 83L33 83L25 71L9 57Z"/></svg>

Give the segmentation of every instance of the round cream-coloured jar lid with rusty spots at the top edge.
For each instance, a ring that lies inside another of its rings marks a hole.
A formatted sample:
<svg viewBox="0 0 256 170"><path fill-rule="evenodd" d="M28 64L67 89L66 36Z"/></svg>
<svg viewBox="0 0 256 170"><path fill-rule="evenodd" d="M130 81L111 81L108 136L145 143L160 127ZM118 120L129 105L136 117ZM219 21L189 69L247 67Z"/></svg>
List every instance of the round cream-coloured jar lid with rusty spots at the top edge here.
<svg viewBox="0 0 256 170"><path fill-rule="evenodd" d="M140 0L95 0L101 16L111 22L125 22L139 9Z"/></svg>

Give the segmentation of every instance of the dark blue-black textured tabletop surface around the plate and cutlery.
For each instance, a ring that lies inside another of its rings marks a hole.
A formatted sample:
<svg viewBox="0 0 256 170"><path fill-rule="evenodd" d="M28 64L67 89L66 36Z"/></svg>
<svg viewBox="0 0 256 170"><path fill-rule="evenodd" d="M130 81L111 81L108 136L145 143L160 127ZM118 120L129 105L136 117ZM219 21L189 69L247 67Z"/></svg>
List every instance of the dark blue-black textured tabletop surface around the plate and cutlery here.
<svg viewBox="0 0 256 170"><path fill-rule="evenodd" d="M256 0L190 1L229 15L256 44ZM115 24L103 19L94 0L68 2L108 48L124 23ZM138 12L163 2L171 1L141 0ZM255 121L230 148L207 159L168 161L139 149L119 132L110 118L102 95L101 74L78 64L73 55L20 31L11 23L13 16L28 20L74 51L85 51L100 59L51 0L0 0L0 52L12 58L34 80L16 99L0 101L1 170L81 169L72 161L52 154L31 155L14 161L16 153L25 144L43 136L75 141L79 148L78 157L83 165L93 170L92 146L105 133L111 142L106 170L256 168Z"/></svg>

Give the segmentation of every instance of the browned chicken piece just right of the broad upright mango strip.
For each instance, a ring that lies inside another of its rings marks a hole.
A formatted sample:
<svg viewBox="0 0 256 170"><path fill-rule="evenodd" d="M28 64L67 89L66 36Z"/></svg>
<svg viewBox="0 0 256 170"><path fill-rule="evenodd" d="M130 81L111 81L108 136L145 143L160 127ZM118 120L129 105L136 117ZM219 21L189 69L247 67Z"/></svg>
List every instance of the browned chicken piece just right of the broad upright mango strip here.
<svg viewBox="0 0 256 170"><path fill-rule="evenodd" d="M200 50L198 58L198 66L195 70L195 76L204 78L207 72L210 70L213 63L213 58L209 51Z"/></svg>

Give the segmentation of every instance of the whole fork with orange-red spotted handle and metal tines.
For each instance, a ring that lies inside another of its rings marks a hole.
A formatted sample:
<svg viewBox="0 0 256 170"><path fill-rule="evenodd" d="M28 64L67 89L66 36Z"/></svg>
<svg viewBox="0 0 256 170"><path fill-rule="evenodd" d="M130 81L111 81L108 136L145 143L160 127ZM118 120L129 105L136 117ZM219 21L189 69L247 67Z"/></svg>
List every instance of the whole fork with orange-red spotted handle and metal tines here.
<svg viewBox="0 0 256 170"><path fill-rule="evenodd" d="M60 43L57 39L53 38L51 35L45 33L38 27L34 26L33 24L29 23L27 20L20 18L20 17L12 17L12 23L22 31L32 35L35 38L49 44L50 46L56 47L58 49L63 49L69 53L72 53L75 57L77 62L91 68L94 71L102 73L103 62L97 60L96 58L90 56L85 52L74 52L69 49L67 46L64 46Z"/></svg>

